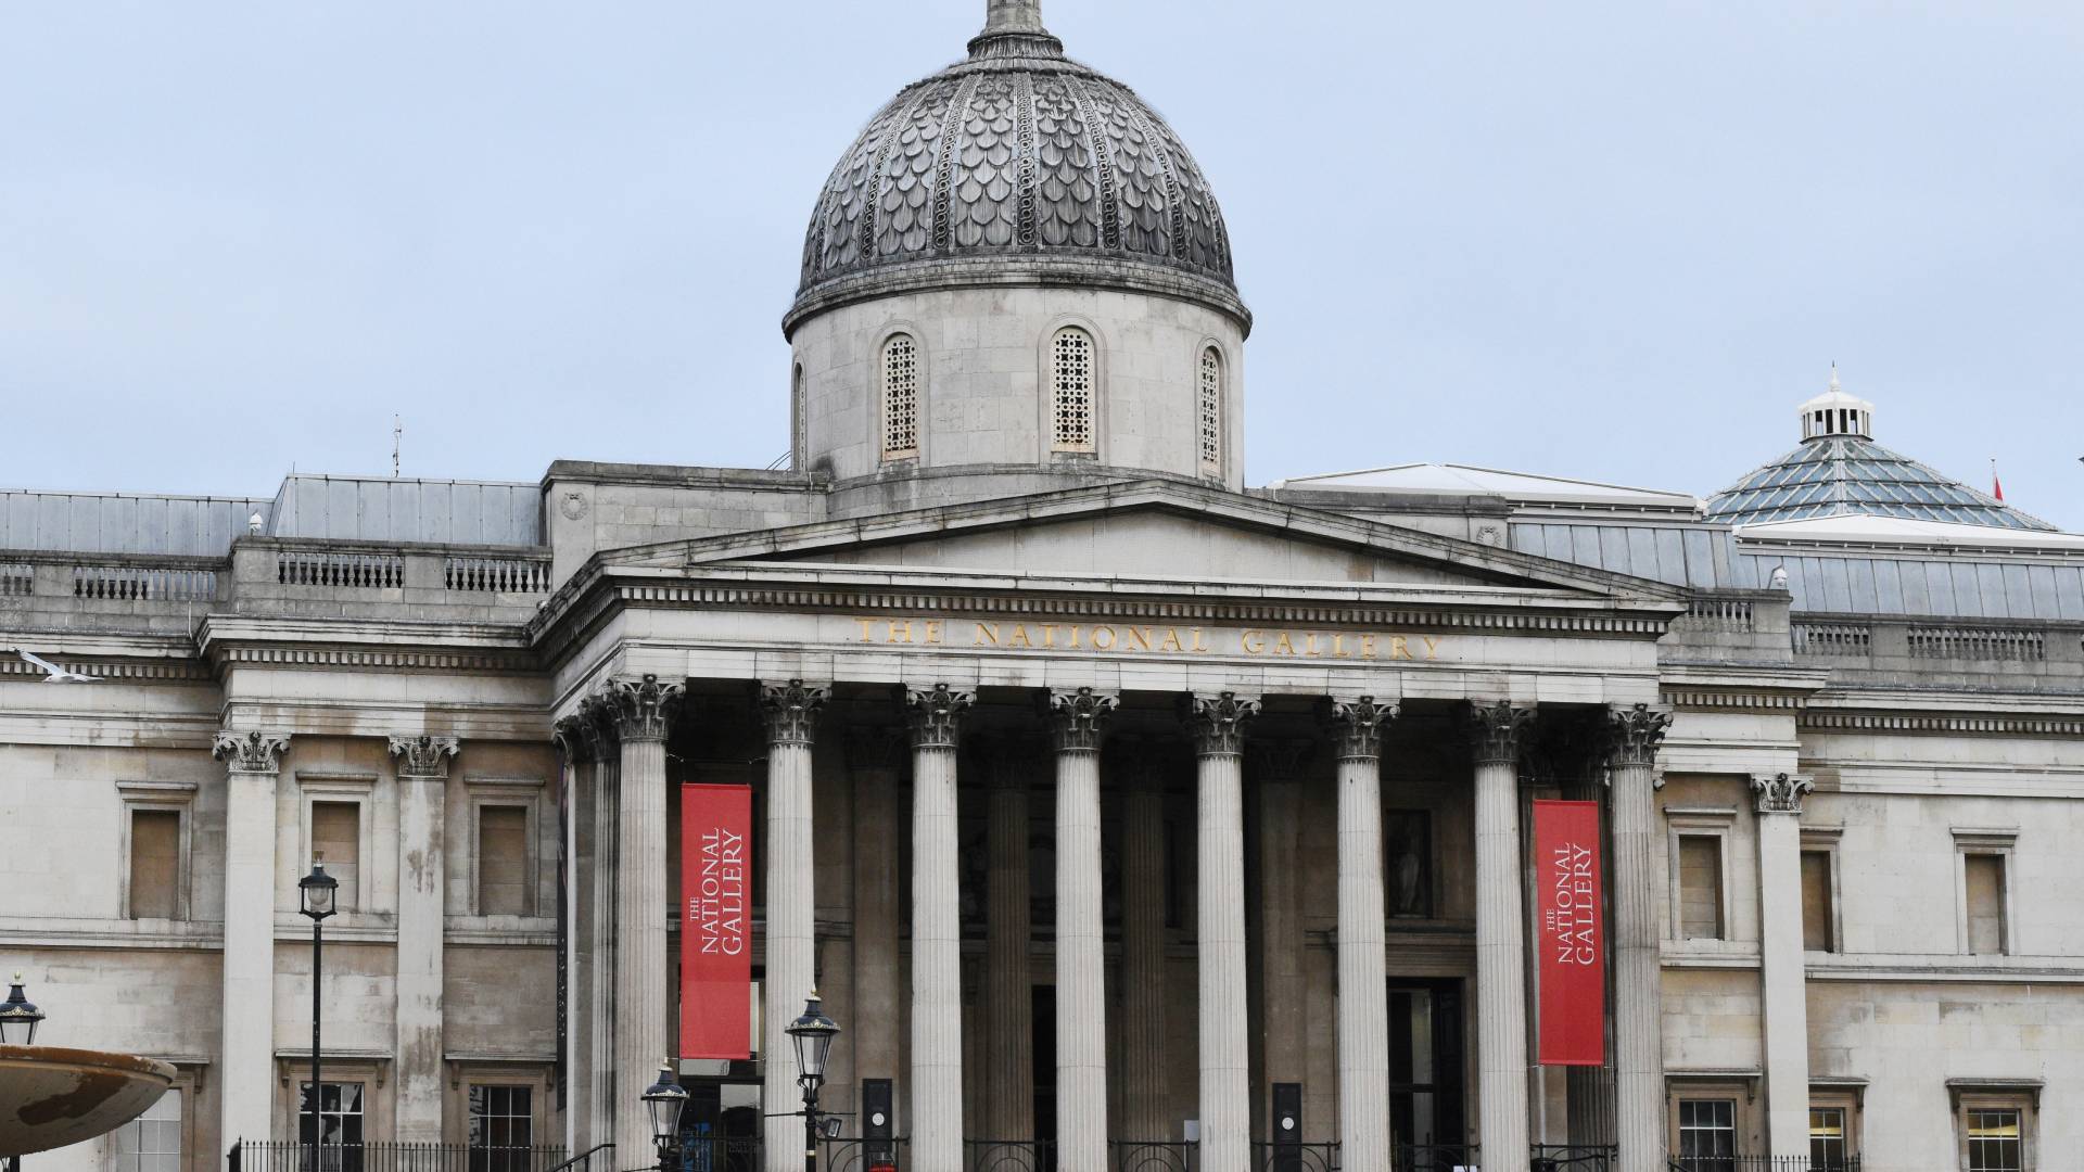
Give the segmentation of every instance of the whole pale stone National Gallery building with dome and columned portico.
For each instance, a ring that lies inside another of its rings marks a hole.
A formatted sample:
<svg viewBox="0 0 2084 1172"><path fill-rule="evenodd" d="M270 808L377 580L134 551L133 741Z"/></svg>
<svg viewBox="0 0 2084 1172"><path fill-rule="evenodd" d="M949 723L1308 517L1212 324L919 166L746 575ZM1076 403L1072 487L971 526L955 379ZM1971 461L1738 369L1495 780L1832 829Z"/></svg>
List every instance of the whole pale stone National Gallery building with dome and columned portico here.
<svg viewBox="0 0 2084 1172"><path fill-rule="evenodd" d="M817 192L786 469L0 492L0 966L179 1070L35 1172L311 1172L315 993L325 1172L650 1168L663 1057L794 1172L813 988L840 1172L2084 1168L2084 536L1836 373L1707 498L1255 488L1250 327L990 0Z"/></svg>

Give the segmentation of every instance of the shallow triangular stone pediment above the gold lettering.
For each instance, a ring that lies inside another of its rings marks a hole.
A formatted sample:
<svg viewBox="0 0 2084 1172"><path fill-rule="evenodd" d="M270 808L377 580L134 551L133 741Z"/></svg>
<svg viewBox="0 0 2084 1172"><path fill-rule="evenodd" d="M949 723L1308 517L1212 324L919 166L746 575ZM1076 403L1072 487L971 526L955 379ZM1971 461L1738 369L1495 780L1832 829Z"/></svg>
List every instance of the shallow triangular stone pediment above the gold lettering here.
<svg viewBox="0 0 2084 1172"><path fill-rule="evenodd" d="M792 526L602 555L946 573L1540 590L1667 603L1659 582L1257 496L1140 482Z"/></svg>

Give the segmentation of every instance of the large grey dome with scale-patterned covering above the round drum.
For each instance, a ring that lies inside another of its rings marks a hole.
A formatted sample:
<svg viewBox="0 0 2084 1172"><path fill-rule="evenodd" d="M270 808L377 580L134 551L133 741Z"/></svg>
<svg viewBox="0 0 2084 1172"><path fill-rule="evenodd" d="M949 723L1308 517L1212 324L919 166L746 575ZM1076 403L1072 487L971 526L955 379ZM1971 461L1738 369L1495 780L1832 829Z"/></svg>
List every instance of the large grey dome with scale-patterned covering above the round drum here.
<svg viewBox="0 0 2084 1172"><path fill-rule="evenodd" d="M1067 284L1248 323L1223 213L1180 136L1069 60L1040 0L990 0L969 58L904 88L840 156L784 332L888 292Z"/></svg>

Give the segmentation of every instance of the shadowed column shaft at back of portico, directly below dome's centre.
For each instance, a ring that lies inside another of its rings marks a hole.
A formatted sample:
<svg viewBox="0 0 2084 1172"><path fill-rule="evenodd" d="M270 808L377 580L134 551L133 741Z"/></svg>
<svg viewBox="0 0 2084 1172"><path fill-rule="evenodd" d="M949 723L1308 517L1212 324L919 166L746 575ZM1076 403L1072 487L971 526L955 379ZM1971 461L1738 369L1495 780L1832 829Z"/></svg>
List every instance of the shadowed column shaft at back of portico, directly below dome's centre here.
<svg viewBox="0 0 2084 1172"><path fill-rule="evenodd" d="M1034 1072L1034 932L1027 876L1027 761L1019 744L998 744L992 761L990 826L986 828L986 1014L990 1066L984 1072L990 1107L988 1139L1036 1139Z"/></svg>

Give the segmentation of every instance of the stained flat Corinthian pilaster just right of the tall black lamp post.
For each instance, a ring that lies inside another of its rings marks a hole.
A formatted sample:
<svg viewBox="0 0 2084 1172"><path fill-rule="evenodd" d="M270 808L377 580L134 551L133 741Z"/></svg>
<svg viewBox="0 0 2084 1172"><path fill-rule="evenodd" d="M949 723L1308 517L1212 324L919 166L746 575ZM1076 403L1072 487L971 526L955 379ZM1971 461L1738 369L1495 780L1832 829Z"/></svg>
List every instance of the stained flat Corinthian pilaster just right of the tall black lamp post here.
<svg viewBox="0 0 2084 1172"><path fill-rule="evenodd" d="M392 736L398 757L400 1143L442 1141L442 928L448 888L448 759L454 736Z"/></svg>

